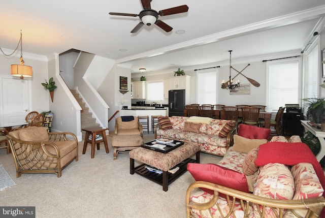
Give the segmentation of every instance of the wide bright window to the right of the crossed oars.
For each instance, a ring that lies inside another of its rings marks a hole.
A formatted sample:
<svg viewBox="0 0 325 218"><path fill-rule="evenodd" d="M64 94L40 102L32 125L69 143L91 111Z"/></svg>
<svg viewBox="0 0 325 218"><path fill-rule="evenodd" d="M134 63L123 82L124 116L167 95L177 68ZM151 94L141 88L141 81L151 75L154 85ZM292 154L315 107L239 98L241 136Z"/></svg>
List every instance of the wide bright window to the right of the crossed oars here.
<svg viewBox="0 0 325 218"><path fill-rule="evenodd" d="M267 63L267 110L276 112L285 104L299 104L299 59Z"/></svg>

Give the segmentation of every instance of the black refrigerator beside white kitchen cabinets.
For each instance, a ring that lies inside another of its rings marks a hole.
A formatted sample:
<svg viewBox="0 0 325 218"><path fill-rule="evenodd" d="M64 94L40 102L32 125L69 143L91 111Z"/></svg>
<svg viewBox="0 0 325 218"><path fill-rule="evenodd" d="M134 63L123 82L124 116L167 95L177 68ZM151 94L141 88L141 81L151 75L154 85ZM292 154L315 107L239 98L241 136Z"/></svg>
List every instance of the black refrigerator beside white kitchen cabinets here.
<svg viewBox="0 0 325 218"><path fill-rule="evenodd" d="M168 107L169 116L184 116L185 89L169 90Z"/></svg>

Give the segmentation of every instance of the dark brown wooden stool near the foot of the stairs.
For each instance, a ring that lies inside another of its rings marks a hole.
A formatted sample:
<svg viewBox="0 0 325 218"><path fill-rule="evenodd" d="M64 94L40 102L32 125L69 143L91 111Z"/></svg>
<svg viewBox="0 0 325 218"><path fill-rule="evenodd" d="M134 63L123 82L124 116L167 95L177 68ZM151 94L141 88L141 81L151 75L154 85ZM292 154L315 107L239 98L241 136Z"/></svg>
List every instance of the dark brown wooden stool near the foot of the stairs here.
<svg viewBox="0 0 325 218"><path fill-rule="evenodd" d="M109 129L102 128L102 127L89 127L89 128L82 129L82 131L86 131L85 142L83 144L82 154L86 153L87 144L90 143L91 144L91 158L93 158L95 155L95 144L97 144L97 150L99 150L101 142L104 142L106 153L109 153L110 151L108 150L106 130L109 130ZM96 140L96 136L98 137L98 140Z"/></svg>

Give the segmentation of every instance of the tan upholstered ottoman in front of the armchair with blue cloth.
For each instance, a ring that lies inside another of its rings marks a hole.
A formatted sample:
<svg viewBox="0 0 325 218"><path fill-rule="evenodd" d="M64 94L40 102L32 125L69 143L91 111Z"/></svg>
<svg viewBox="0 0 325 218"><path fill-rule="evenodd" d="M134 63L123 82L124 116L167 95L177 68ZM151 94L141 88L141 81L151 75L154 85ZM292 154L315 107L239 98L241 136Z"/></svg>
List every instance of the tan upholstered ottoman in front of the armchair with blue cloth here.
<svg viewBox="0 0 325 218"><path fill-rule="evenodd" d="M143 144L140 135L114 135L112 138L113 160L117 159L117 153L129 152Z"/></svg>

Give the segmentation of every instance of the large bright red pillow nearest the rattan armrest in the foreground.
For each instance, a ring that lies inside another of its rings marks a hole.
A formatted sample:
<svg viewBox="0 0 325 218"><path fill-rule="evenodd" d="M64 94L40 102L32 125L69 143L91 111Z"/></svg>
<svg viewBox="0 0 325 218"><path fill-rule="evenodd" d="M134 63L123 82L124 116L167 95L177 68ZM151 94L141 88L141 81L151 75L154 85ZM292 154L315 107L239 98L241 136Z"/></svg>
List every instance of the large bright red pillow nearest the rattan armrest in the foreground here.
<svg viewBox="0 0 325 218"><path fill-rule="evenodd" d="M244 173L236 172L215 164L188 163L187 170L196 181L212 182L238 191L249 192L247 179ZM202 190L212 195L214 192L213 190L204 188L202 188ZM220 196L225 197L225 195L221 193Z"/></svg>

